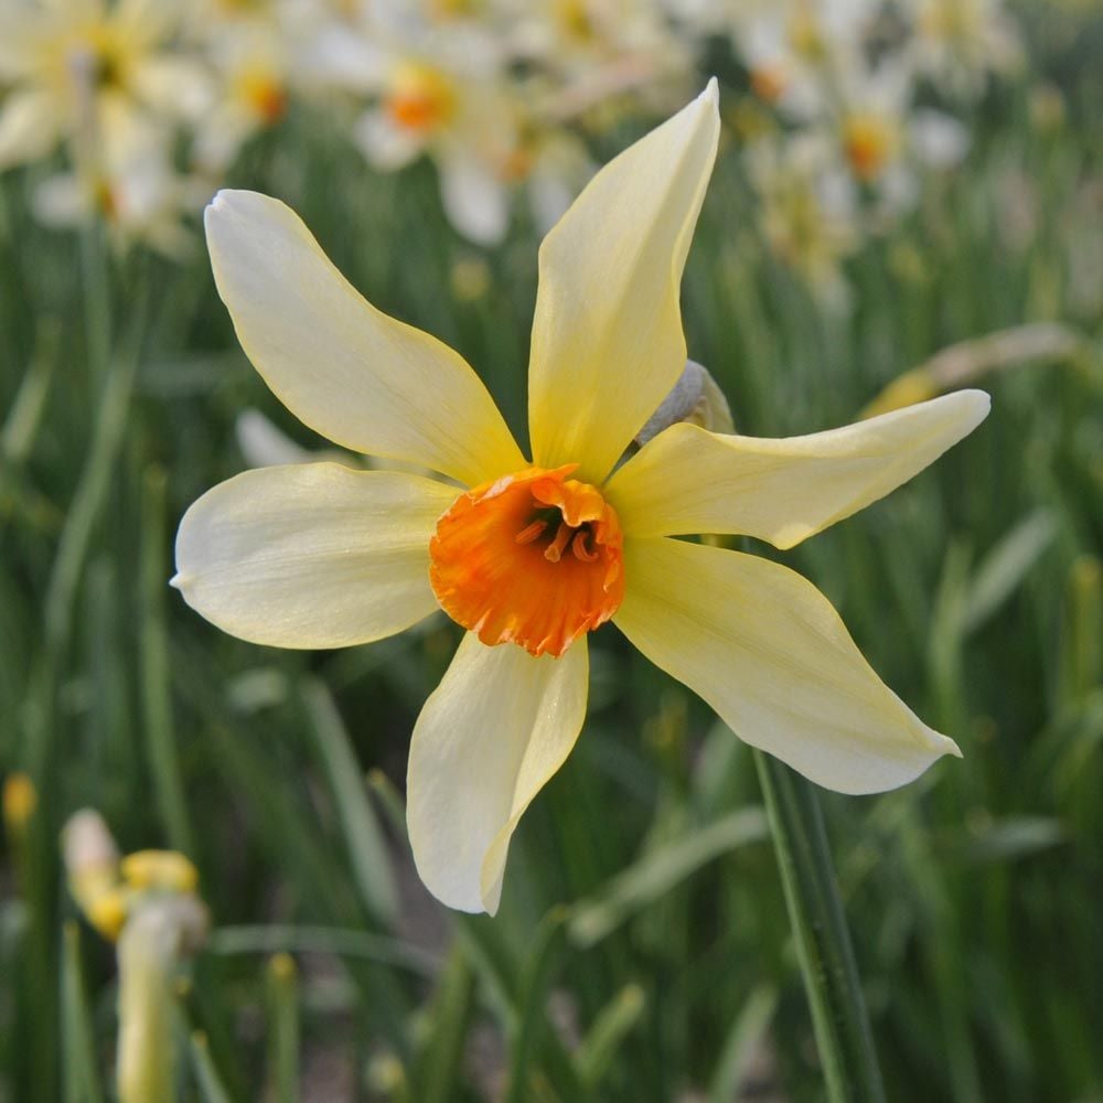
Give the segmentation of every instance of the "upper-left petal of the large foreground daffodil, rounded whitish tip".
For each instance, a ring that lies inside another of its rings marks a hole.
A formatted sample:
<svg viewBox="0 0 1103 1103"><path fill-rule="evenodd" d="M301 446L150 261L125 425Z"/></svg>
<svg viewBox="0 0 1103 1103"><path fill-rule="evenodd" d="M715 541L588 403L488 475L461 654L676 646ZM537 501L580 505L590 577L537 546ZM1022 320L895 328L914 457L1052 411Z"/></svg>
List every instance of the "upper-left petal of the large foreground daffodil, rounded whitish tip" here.
<svg viewBox="0 0 1103 1103"><path fill-rule="evenodd" d="M222 191L206 233L242 347L306 425L467 485L524 465L463 358L366 302L282 203Z"/></svg>

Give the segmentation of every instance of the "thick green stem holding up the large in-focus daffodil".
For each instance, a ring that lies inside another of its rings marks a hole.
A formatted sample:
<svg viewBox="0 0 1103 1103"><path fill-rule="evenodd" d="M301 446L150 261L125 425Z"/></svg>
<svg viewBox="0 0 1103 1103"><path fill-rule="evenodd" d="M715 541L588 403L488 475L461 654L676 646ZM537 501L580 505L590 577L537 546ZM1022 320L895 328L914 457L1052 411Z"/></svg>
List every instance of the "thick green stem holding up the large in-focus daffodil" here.
<svg viewBox="0 0 1103 1103"><path fill-rule="evenodd" d="M832 1103L884 1103L869 1017L811 782L754 751Z"/></svg>

